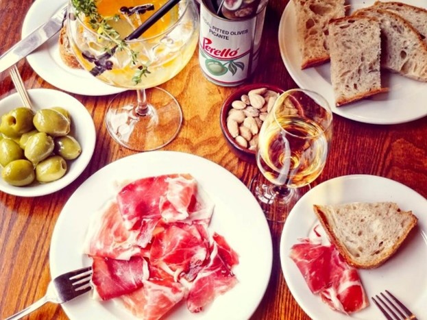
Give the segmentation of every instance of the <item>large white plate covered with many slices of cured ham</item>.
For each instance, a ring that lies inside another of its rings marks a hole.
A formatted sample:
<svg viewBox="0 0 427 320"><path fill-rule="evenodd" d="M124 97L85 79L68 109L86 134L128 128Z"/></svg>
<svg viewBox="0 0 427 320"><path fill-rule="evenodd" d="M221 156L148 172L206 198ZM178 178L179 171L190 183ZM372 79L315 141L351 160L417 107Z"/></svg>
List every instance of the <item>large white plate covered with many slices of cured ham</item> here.
<svg viewBox="0 0 427 320"><path fill-rule="evenodd" d="M254 236L256 234L256 236ZM247 187L204 158L138 153L70 197L53 231L52 278L92 265L70 319L248 319L272 264L269 226Z"/></svg>

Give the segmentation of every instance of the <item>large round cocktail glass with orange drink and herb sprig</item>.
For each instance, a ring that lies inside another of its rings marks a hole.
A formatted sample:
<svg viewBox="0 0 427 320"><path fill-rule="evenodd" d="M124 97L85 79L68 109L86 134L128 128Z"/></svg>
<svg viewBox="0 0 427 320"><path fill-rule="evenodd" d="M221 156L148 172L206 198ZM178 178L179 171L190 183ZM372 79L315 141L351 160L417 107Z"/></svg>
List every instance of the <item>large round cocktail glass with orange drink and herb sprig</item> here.
<svg viewBox="0 0 427 320"><path fill-rule="evenodd" d="M97 79L131 89L112 99L106 126L117 143L134 151L164 147L182 125L178 101L156 87L184 68L198 42L195 3L175 2L139 38L129 40L128 35L171 1L69 1L67 36L77 60Z"/></svg>

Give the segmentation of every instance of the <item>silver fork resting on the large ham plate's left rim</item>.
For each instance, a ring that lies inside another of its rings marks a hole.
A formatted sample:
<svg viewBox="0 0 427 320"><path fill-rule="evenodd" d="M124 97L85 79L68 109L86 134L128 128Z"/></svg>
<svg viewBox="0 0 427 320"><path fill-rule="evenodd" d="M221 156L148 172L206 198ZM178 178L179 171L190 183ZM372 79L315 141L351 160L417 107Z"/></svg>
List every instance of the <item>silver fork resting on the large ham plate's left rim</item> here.
<svg viewBox="0 0 427 320"><path fill-rule="evenodd" d="M49 282L44 297L5 320L21 319L49 301L62 304L90 291L92 289L92 286L90 286L91 275L92 267L77 269L58 275L58 277Z"/></svg>

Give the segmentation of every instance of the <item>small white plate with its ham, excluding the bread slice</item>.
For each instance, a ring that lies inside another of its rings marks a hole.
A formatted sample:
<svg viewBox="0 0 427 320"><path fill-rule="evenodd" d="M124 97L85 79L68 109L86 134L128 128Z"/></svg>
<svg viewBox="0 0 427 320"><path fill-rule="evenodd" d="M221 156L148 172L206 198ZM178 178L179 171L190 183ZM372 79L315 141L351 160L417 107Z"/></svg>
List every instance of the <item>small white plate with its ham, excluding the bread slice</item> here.
<svg viewBox="0 0 427 320"><path fill-rule="evenodd" d="M411 210L418 223L384 264L356 269L330 245L313 205L377 201L392 201L402 210ZM280 240L280 261L289 290L313 320L380 319L382 313L371 297L386 289L421 317L427 299L427 199L408 186L375 175L345 175L323 182L289 213Z"/></svg>

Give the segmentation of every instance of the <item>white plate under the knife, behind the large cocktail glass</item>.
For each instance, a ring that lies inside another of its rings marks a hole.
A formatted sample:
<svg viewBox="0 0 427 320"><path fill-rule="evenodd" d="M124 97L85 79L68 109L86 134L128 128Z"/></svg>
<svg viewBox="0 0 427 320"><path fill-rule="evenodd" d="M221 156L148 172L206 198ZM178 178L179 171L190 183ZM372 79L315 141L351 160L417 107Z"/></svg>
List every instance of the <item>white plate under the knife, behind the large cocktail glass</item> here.
<svg viewBox="0 0 427 320"><path fill-rule="evenodd" d="M36 0L29 8L22 27L22 38L46 23L66 1ZM109 86L83 69L72 69L62 62L58 48L58 34L27 56L32 69L52 86L79 95L112 95L125 89Z"/></svg>

